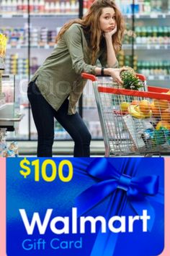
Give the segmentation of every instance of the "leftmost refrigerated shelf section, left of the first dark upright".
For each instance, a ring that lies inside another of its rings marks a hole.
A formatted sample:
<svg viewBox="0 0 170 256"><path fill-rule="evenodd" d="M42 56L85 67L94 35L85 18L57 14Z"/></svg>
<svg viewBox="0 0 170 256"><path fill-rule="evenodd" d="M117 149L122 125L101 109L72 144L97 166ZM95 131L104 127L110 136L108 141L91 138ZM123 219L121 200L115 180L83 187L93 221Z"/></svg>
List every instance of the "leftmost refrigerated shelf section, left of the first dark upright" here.
<svg viewBox="0 0 170 256"><path fill-rule="evenodd" d="M24 7L24 3L23 3ZM1 1L0 33L7 37L4 74L15 77L14 105L24 118L17 126L16 132L8 132L9 140L28 140L28 108L22 103L27 102L27 83L29 76L28 34L26 10L19 9L19 1Z"/></svg>

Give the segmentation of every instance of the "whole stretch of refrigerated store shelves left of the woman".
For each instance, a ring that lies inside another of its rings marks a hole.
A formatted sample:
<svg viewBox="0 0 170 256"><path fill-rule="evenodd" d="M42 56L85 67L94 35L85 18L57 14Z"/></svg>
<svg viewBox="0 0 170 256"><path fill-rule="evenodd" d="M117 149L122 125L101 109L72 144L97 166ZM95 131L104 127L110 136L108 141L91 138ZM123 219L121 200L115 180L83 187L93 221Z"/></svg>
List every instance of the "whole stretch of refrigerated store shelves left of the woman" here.
<svg viewBox="0 0 170 256"><path fill-rule="evenodd" d="M4 74L16 77L15 104L24 114L17 140L36 140L37 131L27 99L27 84L55 47L55 36L68 20L79 17L76 0L1 0L0 33L8 37ZM11 133L12 139L14 135ZM70 138L55 121L55 137Z"/></svg>

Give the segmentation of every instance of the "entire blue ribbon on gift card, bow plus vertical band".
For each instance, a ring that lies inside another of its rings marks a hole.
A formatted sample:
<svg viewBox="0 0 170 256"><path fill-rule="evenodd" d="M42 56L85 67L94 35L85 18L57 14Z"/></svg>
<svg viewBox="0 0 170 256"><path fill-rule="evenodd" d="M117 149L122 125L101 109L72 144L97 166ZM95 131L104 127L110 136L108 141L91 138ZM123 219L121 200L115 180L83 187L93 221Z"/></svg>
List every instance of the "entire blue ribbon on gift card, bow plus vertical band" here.
<svg viewBox="0 0 170 256"><path fill-rule="evenodd" d="M120 209L116 209L115 213L119 215L122 212L128 199L135 213L139 216L142 215L144 209L148 210L148 213L152 216L148 222L148 230L151 231L155 219L155 212L146 197L155 197L158 194L159 177L156 175L142 177L133 176L139 164L138 161L136 162L137 164L134 166L133 161L122 161L122 166L119 168L119 171L117 171L117 168L112 166L107 158L98 158L92 161L86 171L91 177L97 179L98 183L92 185L82 192L81 195L76 197L78 216L83 215L86 211L94 208L95 205L104 200L105 197L110 196L109 209L107 209L109 214L106 216L106 218L109 218L110 213L113 213L112 205L114 200L117 199L117 192L122 191L125 193L126 197L124 197L123 202L120 202ZM128 168L128 170L126 170L126 168ZM133 168L135 168L135 171ZM157 201L163 203L163 198L164 197L157 197ZM101 235L99 233L97 235L91 256L113 255L117 242L117 234L107 234L105 238L106 241L104 241L103 237L103 234ZM103 248L101 244L104 244Z"/></svg>

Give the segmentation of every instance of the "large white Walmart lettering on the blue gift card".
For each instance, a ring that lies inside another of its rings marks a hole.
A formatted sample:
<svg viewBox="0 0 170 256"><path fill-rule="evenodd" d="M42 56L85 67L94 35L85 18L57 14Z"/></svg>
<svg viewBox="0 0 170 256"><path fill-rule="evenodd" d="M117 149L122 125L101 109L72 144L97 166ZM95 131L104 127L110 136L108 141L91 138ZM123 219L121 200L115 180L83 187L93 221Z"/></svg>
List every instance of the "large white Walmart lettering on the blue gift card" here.
<svg viewBox="0 0 170 256"><path fill-rule="evenodd" d="M146 232L148 229L148 220L151 219L151 216L148 216L147 210L143 210L142 216L112 216L109 218L108 223L104 216L81 216L77 218L77 208L72 208L72 216L71 220L69 216L62 217L56 216L55 218L51 218L53 213L53 209L48 209L45 213L45 217L43 220L40 219L39 213L35 212L32 215L32 219L28 220L27 213L24 209L19 209L19 213L22 217L22 221L24 223L24 227L27 231L27 234L32 235L37 225L37 229L40 234L45 234L45 231L50 226L51 231L54 234L69 234L69 225L71 224L71 233L72 234L84 234L86 233L86 223L89 221L88 229L90 229L91 234L97 232L97 222L101 226L101 232L106 233L107 227L113 233L119 232L126 232L126 227L128 226L128 232L133 232L133 226L135 221L142 221L143 222L143 232ZM71 223L70 223L71 221ZM116 226L115 222L119 221L120 226ZM128 222L128 223L127 223ZM60 228L57 226L58 223L63 223L62 227ZM79 223L79 231L78 231L78 223ZM127 224L128 225L127 225ZM115 225L115 226L114 226Z"/></svg>

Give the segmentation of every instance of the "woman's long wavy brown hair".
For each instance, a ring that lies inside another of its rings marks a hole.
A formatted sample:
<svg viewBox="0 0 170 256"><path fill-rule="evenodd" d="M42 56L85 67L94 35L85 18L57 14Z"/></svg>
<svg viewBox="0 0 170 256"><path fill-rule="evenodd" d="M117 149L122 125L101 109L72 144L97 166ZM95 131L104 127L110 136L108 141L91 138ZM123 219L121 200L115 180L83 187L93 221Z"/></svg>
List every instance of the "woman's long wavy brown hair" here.
<svg viewBox="0 0 170 256"><path fill-rule="evenodd" d="M95 0L89 11L82 17L82 19L71 20L67 22L61 28L60 32L58 33L55 42L57 43L58 40L62 38L63 33L68 30L71 25L74 23L78 23L82 25L86 33L89 33L90 38L90 48L92 50L91 53L91 64L95 64L96 56L99 51L101 42L102 42L102 31L99 27L99 17L102 14L102 9L105 7L111 7L115 10L115 20L117 22L117 32L112 35L112 44L115 50L115 54L117 54L122 48L122 36L125 30L125 22L122 17L120 10L117 8L115 1L113 0Z"/></svg>

